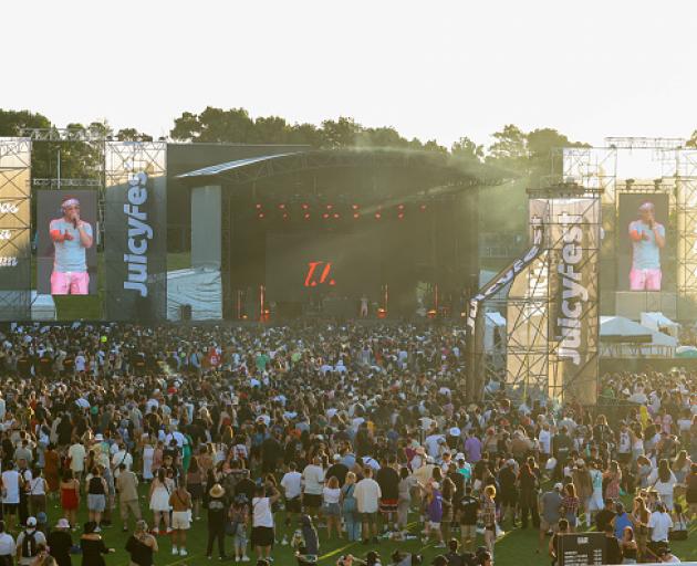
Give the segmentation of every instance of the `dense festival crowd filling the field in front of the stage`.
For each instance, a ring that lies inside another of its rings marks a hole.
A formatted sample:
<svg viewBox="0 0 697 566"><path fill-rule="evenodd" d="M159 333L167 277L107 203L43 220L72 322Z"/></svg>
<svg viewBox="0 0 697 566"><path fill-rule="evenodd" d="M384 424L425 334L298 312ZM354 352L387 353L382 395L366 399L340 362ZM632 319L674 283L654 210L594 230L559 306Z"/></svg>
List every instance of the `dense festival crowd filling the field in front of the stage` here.
<svg viewBox="0 0 697 566"><path fill-rule="evenodd" d="M514 527L553 563L587 528L610 564L678 562L697 514L693 374L606 375L612 403L590 410L502 384L469 402L462 371L445 325L0 331L0 566L103 565L116 513L137 566L186 557L204 518L208 558L259 565L279 545L314 564L341 538L370 546L342 566L416 565L377 551L417 537L433 564L488 565Z"/></svg>

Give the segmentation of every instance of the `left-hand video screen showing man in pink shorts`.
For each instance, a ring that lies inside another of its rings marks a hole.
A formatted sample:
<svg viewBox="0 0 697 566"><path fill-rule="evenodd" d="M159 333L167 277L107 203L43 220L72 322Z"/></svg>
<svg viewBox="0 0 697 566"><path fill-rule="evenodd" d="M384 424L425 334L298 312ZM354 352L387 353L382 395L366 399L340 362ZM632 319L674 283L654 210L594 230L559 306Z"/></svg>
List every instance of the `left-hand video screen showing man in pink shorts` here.
<svg viewBox="0 0 697 566"><path fill-rule="evenodd" d="M97 193L41 190L37 208L37 290L97 293Z"/></svg>

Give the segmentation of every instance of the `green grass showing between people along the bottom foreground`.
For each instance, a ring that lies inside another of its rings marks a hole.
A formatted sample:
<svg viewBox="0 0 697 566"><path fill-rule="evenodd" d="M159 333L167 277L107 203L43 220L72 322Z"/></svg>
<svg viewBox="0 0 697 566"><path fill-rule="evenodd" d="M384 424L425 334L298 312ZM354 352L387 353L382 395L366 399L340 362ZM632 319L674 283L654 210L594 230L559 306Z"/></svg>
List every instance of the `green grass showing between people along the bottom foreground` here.
<svg viewBox="0 0 697 566"><path fill-rule="evenodd" d="M141 492L143 495L142 499L142 509L147 507L146 500L146 485L141 486ZM83 504L84 506L84 504ZM189 531L189 542L188 542L188 552L189 555L184 556L173 556L171 555L171 544L169 542L168 536L159 536L159 553L156 557L155 564L160 565L181 565L181 566L197 566L202 564L209 564L209 560L206 559L206 543L207 543L207 531L206 531L206 516L205 510L202 511L201 521L195 521L191 531ZM127 534L122 532L122 523L118 518L118 513L114 517L114 525L110 528L105 528L102 533L104 536L104 542L107 546L114 547L116 549L115 554L110 554L106 557L106 564L110 566L128 566L128 555L124 551L124 545L126 544ZM145 518L148 521L148 524L152 524L152 513L149 511L145 512ZM53 525L60 518L60 510L55 509L53 504L51 504L51 509L49 512L50 523ZM416 516L413 517L414 520ZM86 521L86 512L82 512L80 515L81 521ZM281 525L283 520L283 514L277 514L277 524ZM133 522L131 522L131 526L133 526ZM506 526L506 525L504 525ZM413 524L412 530L414 532L417 531L417 525ZM685 542L676 542L672 544L672 548L674 553L680 557L683 560L697 560L697 544L695 543L697 536L697 525L693 525L690 530L690 536L688 541ZM80 537L80 532L73 534L73 539L76 541ZM503 566L533 566L533 565L547 565L549 564L549 559L547 553L535 554L538 533L531 527L528 530L516 528L508 533L506 533L496 545L496 564ZM430 564L431 559L440 554L443 551L434 548L434 544L429 544L427 546L422 545L419 541L409 541L405 543L396 543L396 542L384 542L377 545L365 546L361 543L351 543L348 544L345 541L327 541L326 533L324 530L320 531L320 544L321 544L321 553L319 564L322 566L334 565L336 559L342 554L354 554L360 557L364 557L365 553L371 549L376 549L381 553L384 562L383 564L386 566L391 564L388 560L389 555L396 549L406 552L418 552L423 554L426 558L425 564ZM481 537L478 541L478 544L483 544ZM227 538L226 541L226 552L231 554L232 551L232 539ZM252 556L250 554L250 556ZM274 557L274 564L287 566L294 565L295 558L292 555L292 551L289 546L277 545L272 556ZM214 549L214 563L217 563L218 555L217 549ZM229 560L231 562L231 560ZM253 565L256 563L254 559L248 563ZM73 564L80 564L80 557L73 557Z"/></svg>

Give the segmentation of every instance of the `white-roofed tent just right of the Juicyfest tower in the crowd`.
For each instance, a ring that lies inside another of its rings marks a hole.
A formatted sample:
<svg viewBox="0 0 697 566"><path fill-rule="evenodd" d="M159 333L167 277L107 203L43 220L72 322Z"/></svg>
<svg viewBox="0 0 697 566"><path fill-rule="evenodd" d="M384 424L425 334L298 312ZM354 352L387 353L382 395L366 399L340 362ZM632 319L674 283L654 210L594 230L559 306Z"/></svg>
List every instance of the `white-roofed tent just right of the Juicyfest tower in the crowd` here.
<svg viewBox="0 0 697 566"><path fill-rule="evenodd" d="M601 356L672 358L677 345L673 336L624 316L601 316Z"/></svg>

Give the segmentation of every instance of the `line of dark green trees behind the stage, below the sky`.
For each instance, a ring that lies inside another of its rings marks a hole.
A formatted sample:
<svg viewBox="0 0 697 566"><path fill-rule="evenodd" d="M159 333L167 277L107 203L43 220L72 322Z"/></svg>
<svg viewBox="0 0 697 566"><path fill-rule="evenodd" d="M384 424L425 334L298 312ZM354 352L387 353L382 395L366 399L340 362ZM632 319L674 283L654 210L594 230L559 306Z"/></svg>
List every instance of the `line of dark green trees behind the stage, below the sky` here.
<svg viewBox="0 0 697 566"><path fill-rule="evenodd" d="M22 128L50 128L51 120L39 113L0 108L0 136L17 136ZM87 125L67 124L67 128L85 129L116 140L153 140L153 136L127 127L116 132L107 124L92 122ZM289 123L280 116L251 117L245 108L206 107L200 113L184 112L175 118L169 130L175 142L228 143L228 144L291 144L312 148L334 149L350 147L404 148L450 154L464 160L497 165L522 175L542 177L552 172L553 149L560 147L587 147L587 144L570 140L554 128L537 128L523 132L513 124L504 125L492 134L493 142L485 147L467 136L460 137L449 148L435 139L423 142L408 139L394 127L366 127L351 117L325 119L320 125ZM697 147L697 130L688 147ZM95 148L90 144L37 144L33 156L34 177L52 177L56 161L61 160L65 178L98 177L100 164Z"/></svg>

